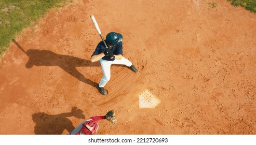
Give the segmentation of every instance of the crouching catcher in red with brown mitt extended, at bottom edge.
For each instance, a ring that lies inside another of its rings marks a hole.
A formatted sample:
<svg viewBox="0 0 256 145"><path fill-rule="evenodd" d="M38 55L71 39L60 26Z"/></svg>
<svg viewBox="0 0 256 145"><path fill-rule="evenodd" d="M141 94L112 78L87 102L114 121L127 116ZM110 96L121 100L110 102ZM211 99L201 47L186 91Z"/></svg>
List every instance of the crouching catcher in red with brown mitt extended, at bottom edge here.
<svg viewBox="0 0 256 145"><path fill-rule="evenodd" d="M82 123L80 123L71 133L70 135L93 135L96 134L97 130L99 129L98 120L106 119L110 121L112 124L116 124L116 117L115 111L110 110L107 111L106 115L104 116L96 116L91 117Z"/></svg>

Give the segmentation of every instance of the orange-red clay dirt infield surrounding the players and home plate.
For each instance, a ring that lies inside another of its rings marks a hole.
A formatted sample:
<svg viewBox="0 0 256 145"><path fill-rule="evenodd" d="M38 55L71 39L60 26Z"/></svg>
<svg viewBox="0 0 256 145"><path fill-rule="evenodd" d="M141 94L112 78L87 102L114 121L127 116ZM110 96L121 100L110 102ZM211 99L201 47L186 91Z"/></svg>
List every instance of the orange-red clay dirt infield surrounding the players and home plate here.
<svg viewBox="0 0 256 145"><path fill-rule="evenodd" d="M0 134L68 134L110 109L118 124L101 120L97 134L256 134L256 15L214 3L74 0L51 10L0 63ZM90 62L101 41L90 15L104 37L123 34L139 69L112 66L106 96ZM145 89L161 100L155 108L139 108Z"/></svg>

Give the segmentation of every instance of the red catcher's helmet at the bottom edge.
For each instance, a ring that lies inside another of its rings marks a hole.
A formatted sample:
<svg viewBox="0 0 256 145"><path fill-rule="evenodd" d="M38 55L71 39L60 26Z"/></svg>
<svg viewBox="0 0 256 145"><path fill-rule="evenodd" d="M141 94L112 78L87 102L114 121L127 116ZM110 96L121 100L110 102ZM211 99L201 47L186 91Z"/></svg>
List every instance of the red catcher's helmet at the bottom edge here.
<svg viewBox="0 0 256 145"><path fill-rule="evenodd" d="M93 135L97 132L99 124L95 120L87 121L83 124L83 127L80 129L78 134L80 135Z"/></svg>

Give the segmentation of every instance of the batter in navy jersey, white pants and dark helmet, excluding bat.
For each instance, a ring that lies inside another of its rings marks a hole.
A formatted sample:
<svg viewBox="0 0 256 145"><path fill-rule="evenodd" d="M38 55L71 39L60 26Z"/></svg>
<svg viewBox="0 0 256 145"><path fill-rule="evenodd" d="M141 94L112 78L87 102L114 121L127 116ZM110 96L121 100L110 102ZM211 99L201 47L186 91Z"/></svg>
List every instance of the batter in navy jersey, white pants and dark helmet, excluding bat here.
<svg viewBox="0 0 256 145"><path fill-rule="evenodd" d="M137 72L138 69L132 65L132 63L123 56L123 36L120 33L110 32L106 35L106 45L104 42L99 42L95 51L91 55L91 62L100 61L103 71L103 77L99 82L99 91L102 95L106 95L107 92L104 89L106 83L110 80L110 66L112 64L121 64L128 66L132 71Z"/></svg>

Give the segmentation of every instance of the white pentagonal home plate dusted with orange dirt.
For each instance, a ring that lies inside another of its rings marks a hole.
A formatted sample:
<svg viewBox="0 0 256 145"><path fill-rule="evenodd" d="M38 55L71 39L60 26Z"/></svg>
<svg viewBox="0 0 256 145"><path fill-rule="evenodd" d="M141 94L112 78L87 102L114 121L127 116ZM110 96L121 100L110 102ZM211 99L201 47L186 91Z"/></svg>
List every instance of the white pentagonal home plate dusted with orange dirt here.
<svg viewBox="0 0 256 145"><path fill-rule="evenodd" d="M144 90L139 95L140 108L155 108L161 101L149 90Z"/></svg>

